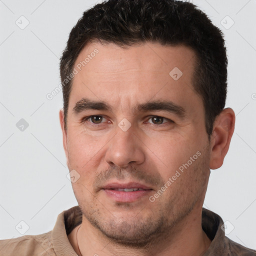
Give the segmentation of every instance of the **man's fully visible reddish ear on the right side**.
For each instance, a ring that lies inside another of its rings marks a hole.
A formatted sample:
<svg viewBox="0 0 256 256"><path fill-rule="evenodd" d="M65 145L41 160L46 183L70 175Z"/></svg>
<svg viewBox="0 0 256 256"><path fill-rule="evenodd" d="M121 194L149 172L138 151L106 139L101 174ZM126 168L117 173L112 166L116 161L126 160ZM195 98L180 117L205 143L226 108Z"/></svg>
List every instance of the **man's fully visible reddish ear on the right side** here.
<svg viewBox="0 0 256 256"><path fill-rule="evenodd" d="M234 131L235 114L231 108L223 109L216 117L210 138L210 169L223 164Z"/></svg>

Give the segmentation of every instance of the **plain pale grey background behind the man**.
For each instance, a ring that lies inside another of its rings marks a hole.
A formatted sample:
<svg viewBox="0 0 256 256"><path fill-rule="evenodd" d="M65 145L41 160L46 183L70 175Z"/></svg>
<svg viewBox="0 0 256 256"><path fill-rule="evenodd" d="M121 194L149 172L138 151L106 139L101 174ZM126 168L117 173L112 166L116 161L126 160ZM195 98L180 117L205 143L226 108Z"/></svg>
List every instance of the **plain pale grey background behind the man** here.
<svg viewBox="0 0 256 256"><path fill-rule="evenodd" d="M62 94L46 95L60 83L59 57L70 29L95 2L0 0L1 239L47 232L57 214L77 205L58 120ZM229 238L255 249L256 0L193 2L225 34L226 106L236 113L229 152L211 171L204 207L228 221Z"/></svg>

